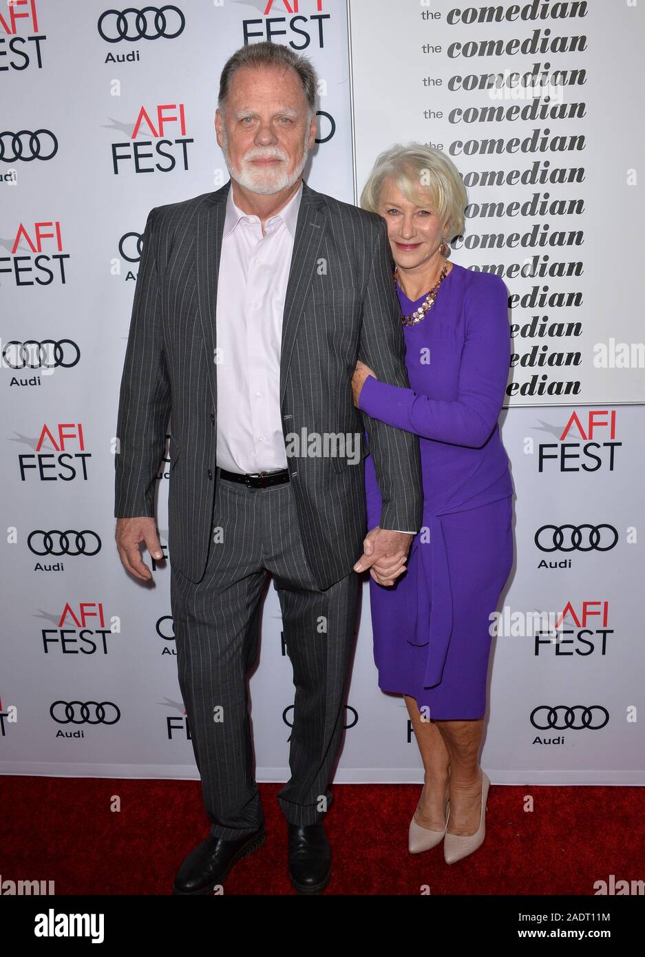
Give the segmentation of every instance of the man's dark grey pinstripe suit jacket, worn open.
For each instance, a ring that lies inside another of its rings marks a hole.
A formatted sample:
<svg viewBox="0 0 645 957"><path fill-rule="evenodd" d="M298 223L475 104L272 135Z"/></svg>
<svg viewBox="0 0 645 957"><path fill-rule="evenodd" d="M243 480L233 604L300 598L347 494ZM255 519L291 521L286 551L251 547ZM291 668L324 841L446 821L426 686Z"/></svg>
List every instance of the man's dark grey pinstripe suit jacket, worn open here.
<svg viewBox="0 0 645 957"><path fill-rule="evenodd" d="M149 212L119 399L114 514L154 516L171 413L168 546L173 568L193 582L204 574L211 536L215 303L230 187L231 180ZM418 439L357 410L350 384L358 358L380 379L409 388L404 356L385 222L303 182L282 320L283 433L285 441L302 429L360 434L362 454L357 464L351 446L349 455L288 459L305 554L321 589L362 554L368 452L383 497L381 526L421 526Z"/></svg>

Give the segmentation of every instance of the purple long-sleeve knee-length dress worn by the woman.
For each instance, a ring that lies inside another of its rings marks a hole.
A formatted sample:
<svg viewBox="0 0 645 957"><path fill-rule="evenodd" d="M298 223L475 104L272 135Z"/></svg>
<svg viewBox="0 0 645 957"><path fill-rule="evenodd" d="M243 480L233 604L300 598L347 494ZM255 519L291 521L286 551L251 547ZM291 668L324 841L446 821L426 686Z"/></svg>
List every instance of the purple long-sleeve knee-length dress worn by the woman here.
<svg viewBox="0 0 645 957"><path fill-rule="evenodd" d="M402 313L412 302L397 283ZM498 276L456 263L420 323L403 326L411 389L368 376L359 408L419 436L423 527L393 586L370 577L374 661L383 691L411 695L428 717L482 718L490 615L513 564L512 495L498 417L510 356ZM381 494L365 459L367 527Z"/></svg>

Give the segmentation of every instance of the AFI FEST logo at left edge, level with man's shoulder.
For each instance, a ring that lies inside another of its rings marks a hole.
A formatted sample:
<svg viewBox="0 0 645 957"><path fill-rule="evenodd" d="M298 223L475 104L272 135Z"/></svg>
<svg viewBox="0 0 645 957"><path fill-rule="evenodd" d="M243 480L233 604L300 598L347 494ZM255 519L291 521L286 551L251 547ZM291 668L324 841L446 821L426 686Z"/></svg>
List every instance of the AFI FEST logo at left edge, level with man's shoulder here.
<svg viewBox="0 0 645 957"><path fill-rule="evenodd" d="M0 256L2 275L9 274L15 286L64 286L65 259L62 230L58 220L43 220L29 227L20 223L11 245L11 256Z"/></svg>

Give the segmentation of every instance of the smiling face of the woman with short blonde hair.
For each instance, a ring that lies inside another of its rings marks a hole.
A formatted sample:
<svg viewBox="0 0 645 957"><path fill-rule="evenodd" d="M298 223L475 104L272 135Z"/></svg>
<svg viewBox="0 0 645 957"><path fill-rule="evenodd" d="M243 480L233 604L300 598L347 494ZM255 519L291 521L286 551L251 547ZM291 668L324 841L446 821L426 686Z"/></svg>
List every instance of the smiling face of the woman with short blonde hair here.
<svg viewBox="0 0 645 957"><path fill-rule="evenodd" d="M423 193L416 199L423 203ZM397 266L423 267L436 255L444 236L443 225L428 203L416 206L393 180L387 179L381 189L378 212L388 224L389 245Z"/></svg>

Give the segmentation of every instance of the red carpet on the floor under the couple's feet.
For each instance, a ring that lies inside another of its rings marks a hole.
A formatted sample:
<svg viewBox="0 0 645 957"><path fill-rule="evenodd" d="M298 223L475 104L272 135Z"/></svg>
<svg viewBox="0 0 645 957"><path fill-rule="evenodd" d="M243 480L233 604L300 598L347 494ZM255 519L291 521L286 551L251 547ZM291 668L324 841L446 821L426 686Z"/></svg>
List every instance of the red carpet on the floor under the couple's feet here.
<svg viewBox="0 0 645 957"><path fill-rule="evenodd" d="M279 785L260 785L264 847L236 864L226 894L295 894ZM596 880L645 877L642 788L492 785L483 845L448 865L443 846L408 853L417 785L333 785L326 894L593 894ZM209 831L198 781L2 778L0 875L55 880L56 894L168 894ZM534 811L523 811L531 794ZM111 812L113 795L121 812Z"/></svg>

